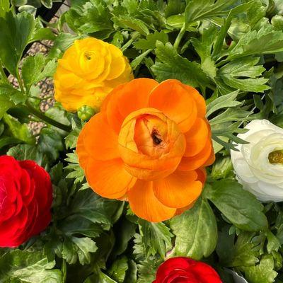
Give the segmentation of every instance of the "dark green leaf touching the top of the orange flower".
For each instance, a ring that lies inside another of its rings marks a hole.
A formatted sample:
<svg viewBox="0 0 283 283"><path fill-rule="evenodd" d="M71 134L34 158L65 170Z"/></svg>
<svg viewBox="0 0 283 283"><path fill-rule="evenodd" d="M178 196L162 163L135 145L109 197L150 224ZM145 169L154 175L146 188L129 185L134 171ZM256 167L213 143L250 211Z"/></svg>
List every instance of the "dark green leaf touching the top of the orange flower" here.
<svg viewBox="0 0 283 283"><path fill-rule="evenodd" d="M202 88L210 82L204 71L200 69L200 64L181 57L169 42L166 45L157 42L156 57L158 61L151 69L154 71L157 81L178 79L190 86Z"/></svg>

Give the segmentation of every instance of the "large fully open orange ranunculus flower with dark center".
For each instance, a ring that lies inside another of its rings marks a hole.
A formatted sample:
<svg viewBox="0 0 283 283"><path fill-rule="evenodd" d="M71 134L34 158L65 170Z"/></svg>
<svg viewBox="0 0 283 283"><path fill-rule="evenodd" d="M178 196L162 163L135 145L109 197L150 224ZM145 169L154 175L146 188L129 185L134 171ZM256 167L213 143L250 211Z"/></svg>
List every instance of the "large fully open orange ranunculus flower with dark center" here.
<svg viewBox="0 0 283 283"><path fill-rule="evenodd" d="M192 207L214 162L200 93L177 80L115 88L79 134L76 152L98 195L128 200L148 221Z"/></svg>

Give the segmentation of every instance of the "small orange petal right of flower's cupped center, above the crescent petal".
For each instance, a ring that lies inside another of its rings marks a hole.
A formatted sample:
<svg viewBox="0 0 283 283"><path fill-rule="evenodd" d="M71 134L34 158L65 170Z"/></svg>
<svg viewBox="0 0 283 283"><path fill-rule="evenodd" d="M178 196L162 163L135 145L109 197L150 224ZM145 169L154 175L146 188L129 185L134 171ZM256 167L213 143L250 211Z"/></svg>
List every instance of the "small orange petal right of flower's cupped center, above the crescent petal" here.
<svg viewBox="0 0 283 283"><path fill-rule="evenodd" d="M190 131L185 133L186 149L184 156L199 154L207 142L208 134L207 123L203 119L197 118Z"/></svg>

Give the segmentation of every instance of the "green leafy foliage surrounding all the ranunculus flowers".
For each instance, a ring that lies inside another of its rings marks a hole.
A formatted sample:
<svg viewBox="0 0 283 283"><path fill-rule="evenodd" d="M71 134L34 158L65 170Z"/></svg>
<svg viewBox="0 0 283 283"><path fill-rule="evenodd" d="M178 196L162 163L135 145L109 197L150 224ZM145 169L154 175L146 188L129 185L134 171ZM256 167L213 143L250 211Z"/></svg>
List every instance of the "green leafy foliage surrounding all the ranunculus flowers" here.
<svg viewBox="0 0 283 283"><path fill-rule="evenodd" d="M0 282L149 283L173 256L205 260L223 278L229 268L250 283L283 282L282 203L261 204L243 190L229 156L246 142L236 137L246 122L283 126L281 1L74 0L52 24L57 35L31 2L0 0L0 151L49 171L52 223L23 246L0 249ZM57 103L40 110L37 83L86 36L120 47L136 78L179 79L206 100L216 162L195 206L170 221L138 219L126 202L89 188L76 141L94 112L82 117ZM52 40L49 54L24 55L38 40ZM45 125L35 134L31 121Z"/></svg>

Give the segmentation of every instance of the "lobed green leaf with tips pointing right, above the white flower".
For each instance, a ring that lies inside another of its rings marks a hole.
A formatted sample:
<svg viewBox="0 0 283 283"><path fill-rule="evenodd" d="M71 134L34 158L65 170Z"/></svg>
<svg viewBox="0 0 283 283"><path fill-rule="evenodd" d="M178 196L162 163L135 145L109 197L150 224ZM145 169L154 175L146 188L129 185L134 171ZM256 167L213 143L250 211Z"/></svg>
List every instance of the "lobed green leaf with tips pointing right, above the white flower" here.
<svg viewBox="0 0 283 283"><path fill-rule="evenodd" d="M217 76L231 88L262 93L270 89L270 86L265 84L268 79L259 77L265 71L264 67L256 65L259 60L259 57L235 59L221 67Z"/></svg>

